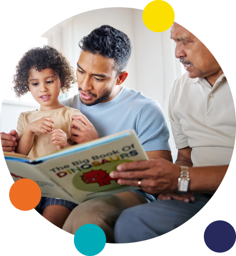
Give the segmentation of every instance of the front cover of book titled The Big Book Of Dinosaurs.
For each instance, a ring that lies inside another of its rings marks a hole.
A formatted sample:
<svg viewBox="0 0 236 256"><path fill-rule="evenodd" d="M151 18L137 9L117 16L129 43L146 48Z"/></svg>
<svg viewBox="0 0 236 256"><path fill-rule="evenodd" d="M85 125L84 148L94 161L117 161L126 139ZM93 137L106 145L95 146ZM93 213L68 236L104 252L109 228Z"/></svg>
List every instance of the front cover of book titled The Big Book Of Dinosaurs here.
<svg viewBox="0 0 236 256"><path fill-rule="evenodd" d="M90 198L139 189L119 185L109 173L124 162L148 160L136 134L93 149L38 164L61 188L78 202Z"/></svg>

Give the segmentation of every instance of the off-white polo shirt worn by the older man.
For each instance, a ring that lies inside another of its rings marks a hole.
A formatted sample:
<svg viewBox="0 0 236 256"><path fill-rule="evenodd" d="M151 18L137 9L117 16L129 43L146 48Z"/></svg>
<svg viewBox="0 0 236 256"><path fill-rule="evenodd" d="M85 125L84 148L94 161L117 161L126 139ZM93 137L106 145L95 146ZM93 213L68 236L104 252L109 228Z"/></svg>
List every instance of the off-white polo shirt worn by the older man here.
<svg viewBox="0 0 236 256"><path fill-rule="evenodd" d="M236 111L223 74L214 86L205 78L177 78L171 87L169 119L177 149L192 148L193 166L229 165L235 146Z"/></svg>

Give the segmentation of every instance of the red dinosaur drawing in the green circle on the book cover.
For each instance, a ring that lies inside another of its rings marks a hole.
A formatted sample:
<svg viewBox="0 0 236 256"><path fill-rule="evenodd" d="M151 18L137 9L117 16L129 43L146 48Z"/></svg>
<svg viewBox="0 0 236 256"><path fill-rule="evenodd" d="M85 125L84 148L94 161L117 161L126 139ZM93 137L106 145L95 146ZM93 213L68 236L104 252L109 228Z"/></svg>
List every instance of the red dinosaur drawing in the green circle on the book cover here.
<svg viewBox="0 0 236 256"><path fill-rule="evenodd" d="M91 170L88 172L83 173L83 176L81 176L83 182L90 184L97 182L99 186L109 185L111 184L110 180L116 180L118 179L112 179L106 171L100 169L100 170Z"/></svg>

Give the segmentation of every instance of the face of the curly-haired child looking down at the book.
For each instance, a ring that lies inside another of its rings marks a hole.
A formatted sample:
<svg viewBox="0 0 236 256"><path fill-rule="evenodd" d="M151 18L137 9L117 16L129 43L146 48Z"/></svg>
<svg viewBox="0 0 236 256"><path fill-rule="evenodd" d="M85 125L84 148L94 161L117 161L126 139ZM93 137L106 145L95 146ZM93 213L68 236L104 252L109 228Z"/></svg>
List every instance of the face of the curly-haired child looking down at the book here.
<svg viewBox="0 0 236 256"><path fill-rule="evenodd" d="M33 98L41 107L40 110L51 110L59 108L59 92L61 87L60 78L57 80L53 69L45 68L40 72L35 68L29 70L29 88Z"/></svg>

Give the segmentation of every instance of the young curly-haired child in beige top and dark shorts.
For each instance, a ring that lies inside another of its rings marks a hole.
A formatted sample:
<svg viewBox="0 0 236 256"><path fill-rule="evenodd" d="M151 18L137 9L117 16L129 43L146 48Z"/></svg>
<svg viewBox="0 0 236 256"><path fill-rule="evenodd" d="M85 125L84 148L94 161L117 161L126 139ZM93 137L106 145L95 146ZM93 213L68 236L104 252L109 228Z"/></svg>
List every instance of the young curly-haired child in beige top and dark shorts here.
<svg viewBox="0 0 236 256"><path fill-rule="evenodd" d="M60 90L68 90L75 82L73 68L53 47L46 45L24 53L16 66L13 90L17 97L30 91L40 109L20 114L16 153L36 158L75 144L71 141L71 117L82 113L59 101ZM36 210L61 229L75 206L66 200L42 197Z"/></svg>

